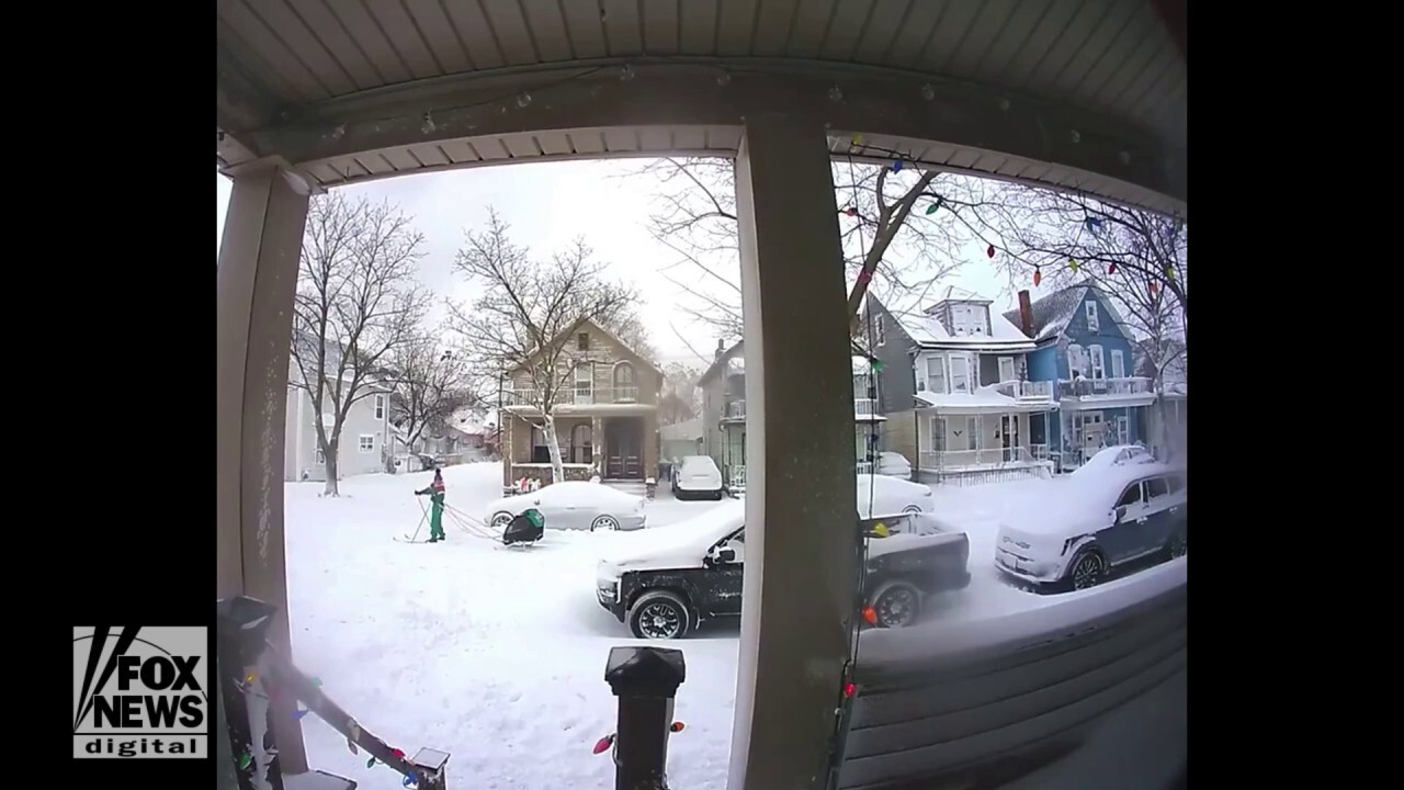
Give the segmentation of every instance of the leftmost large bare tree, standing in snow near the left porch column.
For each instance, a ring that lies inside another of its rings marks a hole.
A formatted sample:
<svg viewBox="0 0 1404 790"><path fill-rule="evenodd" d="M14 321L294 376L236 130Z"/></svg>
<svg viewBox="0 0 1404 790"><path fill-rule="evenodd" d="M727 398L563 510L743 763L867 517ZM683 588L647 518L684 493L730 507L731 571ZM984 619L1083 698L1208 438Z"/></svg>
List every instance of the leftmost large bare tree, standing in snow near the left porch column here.
<svg viewBox="0 0 1404 790"><path fill-rule="evenodd" d="M424 236L389 204L317 198L307 228L293 301L292 381L317 412L317 448L326 460L326 496L337 496L337 451L351 406L389 394L388 365L411 336L427 298L414 266Z"/></svg>

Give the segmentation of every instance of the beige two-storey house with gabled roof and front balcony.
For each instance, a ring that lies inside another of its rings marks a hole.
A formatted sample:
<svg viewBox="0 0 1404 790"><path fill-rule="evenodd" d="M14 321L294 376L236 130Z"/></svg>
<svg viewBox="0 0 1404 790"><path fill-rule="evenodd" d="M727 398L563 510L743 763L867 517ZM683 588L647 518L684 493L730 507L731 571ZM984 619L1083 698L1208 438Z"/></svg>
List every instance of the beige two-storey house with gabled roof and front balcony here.
<svg viewBox="0 0 1404 790"><path fill-rule="evenodd" d="M569 336L552 415L566 479L643 481L657 475L658 391L663 373L595 322ZM500 422L503 485L528 478L552 482L539 398L528 364L503 382Z"/></svg>

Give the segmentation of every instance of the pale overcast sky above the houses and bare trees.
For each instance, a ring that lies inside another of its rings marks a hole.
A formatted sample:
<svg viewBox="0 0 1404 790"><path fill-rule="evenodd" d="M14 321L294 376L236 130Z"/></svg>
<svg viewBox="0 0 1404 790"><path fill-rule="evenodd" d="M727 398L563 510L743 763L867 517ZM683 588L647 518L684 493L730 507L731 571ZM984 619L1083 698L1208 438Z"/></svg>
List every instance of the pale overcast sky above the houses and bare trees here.
<svg viewBox="0 0 1404 790"><path fill-rule="evenodd" d="M710 361L716 336L692 323L677 305L689 298L658 270L677 254L654 242L647 232L649 205L656 186L649 176L632 176L640 160L552 162L511 164L404 176L341 187L350 195L389 200L414 218L425 236L425 257L420 280L441 295L468 299L473 288L453 273L465 228L479 228L493 205L511 226L512 239L541 257L584 236L595 254L632 281L644 297L640 316L658 350L658 363ZM230 181L216 173L216 233L223 233ZM675 270L674 277L680 273ZM1004 274L995 271L977 246L948 280L994 299L1000 311L1014 306ZM943 291L943 288L941 288ZM935 292L935 291L934 291ZM678 335L687 339L687 344ZM698 360L688 344L705 354Z"/></svg>

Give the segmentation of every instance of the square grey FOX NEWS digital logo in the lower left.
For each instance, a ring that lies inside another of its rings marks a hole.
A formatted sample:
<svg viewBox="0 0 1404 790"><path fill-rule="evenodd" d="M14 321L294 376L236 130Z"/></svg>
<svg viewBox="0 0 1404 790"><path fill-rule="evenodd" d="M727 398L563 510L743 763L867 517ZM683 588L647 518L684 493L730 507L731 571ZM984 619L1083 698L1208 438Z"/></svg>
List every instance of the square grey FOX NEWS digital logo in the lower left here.
<svg viewBox="0 0 1404 790"><path fill-rule="evenodd" d="M204 758L204 626L73 628L74 758Z"/></svg>

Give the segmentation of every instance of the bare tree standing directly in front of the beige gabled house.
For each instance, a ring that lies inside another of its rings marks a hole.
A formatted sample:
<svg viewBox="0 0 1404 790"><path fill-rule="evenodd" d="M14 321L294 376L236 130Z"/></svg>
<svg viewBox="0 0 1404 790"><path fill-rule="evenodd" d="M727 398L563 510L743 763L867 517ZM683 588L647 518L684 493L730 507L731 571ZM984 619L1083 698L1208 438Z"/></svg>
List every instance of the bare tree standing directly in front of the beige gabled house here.
<svg viewBox="0 0 1404 790"><path fill-rule="evenodd" d="M573 392L577 360L569 340L585 322L609 326L635 302L635 294L608 281L584 239L534 261L489 209L487 228L466 233L453 266L483 294L469 306L451 304L452 326L484 370L511 377L518 416L546 436L552 479L563 481L555 410ZM507 426L503 426L508 430Z"/></svg>

